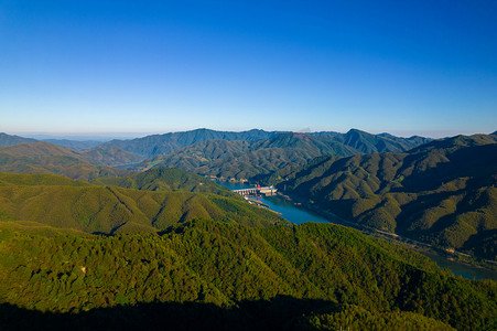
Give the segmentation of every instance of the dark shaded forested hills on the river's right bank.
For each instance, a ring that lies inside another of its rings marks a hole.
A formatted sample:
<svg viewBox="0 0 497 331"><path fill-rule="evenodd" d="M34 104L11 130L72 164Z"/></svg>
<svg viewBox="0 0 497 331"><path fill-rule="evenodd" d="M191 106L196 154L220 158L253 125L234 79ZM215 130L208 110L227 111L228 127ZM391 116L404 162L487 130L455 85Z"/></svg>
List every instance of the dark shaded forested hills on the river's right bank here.
<svg viewBox="0 0 497 331"><path fill-rule="evenodd" d="M476 135L323 158L279 188L366 226L496 259L496 185L497 136Z"/></svg>

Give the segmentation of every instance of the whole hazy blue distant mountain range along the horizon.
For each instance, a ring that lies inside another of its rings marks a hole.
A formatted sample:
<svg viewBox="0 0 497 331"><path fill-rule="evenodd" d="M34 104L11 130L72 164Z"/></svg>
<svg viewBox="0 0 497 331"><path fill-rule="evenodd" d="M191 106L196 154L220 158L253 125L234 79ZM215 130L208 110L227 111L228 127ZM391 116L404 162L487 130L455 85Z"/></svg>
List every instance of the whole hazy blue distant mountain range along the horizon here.
<svg viewBox="0 0 497 331"><path fill-rule="evenodd" d="M260 181L273 171L289 166L303 166L321 156L348 157L380 151L401 152L431 141L431 139L398 138L387 134L370 135L355 129L347 134L295 134L256 129L228 132L197 129L131 140L112 140L99 146L95 146L95 141L51 141L60 147L74 149L65 150L71 158L97 167L119 167L134 171L169 167L202 175ZM19 142L33 142L33 139L4 134L0 136L0 145L11 146ZM80 150L88 146L93 148ZM147 157L149 159L144 160ZM25 161L28 162L28 160ZM40 164L20 166L17 163L14 167L4 168L3 171L20 169L19 172L42 172ZM93 172L95 171L93 170ZM61 172L60 169L54 170L53 173L67 174ZM75 174L72 174L71 178L85 179L85 177ZM95 177L91 175L91 178Z"/></svg>

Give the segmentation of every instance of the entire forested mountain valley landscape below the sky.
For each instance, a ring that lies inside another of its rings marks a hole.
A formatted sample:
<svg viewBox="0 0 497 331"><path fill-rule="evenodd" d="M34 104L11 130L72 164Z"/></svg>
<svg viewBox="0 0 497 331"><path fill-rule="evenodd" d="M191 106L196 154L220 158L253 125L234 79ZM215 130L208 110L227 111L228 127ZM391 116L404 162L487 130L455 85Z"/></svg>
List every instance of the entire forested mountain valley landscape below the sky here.
<svg viewBox="0 0 497 331"><path fill-rule="evenodd" d="M0 327L497 325L494 274L412 249L496 259L495 135L19 139L0 136ZM231 192L249 183L278 213Z"/></svg>

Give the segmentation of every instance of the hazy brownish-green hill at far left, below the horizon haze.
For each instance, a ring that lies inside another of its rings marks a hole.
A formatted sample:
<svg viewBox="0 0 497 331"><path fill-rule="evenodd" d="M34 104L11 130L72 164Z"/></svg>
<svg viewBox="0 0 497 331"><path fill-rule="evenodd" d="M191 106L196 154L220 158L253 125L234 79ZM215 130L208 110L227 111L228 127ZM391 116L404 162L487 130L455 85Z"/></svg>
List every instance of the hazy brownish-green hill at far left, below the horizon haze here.
<svg viewBox="0 0 497 331"><path fill-rule="evenodd" d="M10 173L53 173L90 181L99 177L131 174L131 171L88 163L78 152L48 142L0 147L0 171Z"/></svg>

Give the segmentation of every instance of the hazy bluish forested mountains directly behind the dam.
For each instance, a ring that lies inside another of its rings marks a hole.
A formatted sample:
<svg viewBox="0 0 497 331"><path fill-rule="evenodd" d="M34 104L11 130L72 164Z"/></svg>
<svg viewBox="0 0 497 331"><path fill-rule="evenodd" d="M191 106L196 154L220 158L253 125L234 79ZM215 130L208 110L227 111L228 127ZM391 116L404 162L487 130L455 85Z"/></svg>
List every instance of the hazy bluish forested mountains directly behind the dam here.
<svg viewBox="0 0 497 331"><path fill-rule="evenodd" d="M321 156L406 151L425 141L428 139L420 137L403 139L359 130L345 135L288 132L257 141L202 141L147 159L137 169L175 167L203 175L264 181L264 177L273 171L303 166Z"/></svg>

